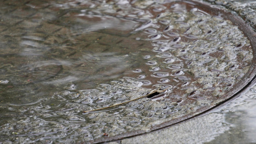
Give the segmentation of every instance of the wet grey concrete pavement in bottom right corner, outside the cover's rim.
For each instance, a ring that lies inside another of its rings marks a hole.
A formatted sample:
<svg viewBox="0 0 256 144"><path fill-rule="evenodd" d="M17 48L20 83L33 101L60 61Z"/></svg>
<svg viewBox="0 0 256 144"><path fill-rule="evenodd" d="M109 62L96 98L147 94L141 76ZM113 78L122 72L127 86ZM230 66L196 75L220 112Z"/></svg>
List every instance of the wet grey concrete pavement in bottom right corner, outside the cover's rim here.
<svg viewBox="0 0 256 144"><path fill-rule="evenodd" d="M111 143L255 143L255 88L204 116Z"/></svg>

